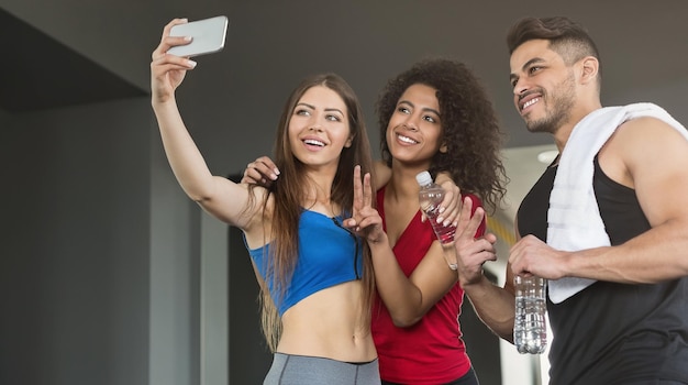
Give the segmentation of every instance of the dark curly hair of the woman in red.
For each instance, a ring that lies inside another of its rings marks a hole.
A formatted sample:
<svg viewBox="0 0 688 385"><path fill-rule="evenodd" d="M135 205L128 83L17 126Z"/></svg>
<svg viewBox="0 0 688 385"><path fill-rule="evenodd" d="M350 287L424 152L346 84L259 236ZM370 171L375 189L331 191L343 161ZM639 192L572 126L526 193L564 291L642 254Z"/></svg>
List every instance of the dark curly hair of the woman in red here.
<svg viewBox="0 0 688 385"><path fill-rule="evenodd" d="M487 211L495 212L508 183L500 153L503 134L487 91L460 62L425 59L387 82L376 103L382 161L391 167L387 127L399 98L415 84L437 90L440 142L447 146L446 153L433 156L430 174L435 177L437 173L448 173L463 193L477 195Z"/></svg>

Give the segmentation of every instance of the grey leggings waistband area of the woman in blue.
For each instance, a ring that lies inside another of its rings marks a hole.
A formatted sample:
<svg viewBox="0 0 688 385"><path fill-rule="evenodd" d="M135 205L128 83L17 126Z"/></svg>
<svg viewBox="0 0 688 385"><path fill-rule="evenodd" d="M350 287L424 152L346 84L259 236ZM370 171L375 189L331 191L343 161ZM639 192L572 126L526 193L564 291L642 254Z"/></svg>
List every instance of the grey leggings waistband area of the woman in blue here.
<svg viewBox="0 0 688 385"><path fill-rule="evenodd" d="M275 353L263 385L380 385L377 359L348 363L317 356Z"/></svg>

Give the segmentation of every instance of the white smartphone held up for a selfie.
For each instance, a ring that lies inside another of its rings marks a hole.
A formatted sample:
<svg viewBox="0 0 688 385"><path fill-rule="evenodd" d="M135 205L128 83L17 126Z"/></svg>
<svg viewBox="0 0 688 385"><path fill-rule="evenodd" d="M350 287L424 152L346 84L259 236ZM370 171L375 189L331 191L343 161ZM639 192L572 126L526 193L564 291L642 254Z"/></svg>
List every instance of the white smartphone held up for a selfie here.
<svg viewBox="0 0 688 385"><path fill-rule="evenodd" d="M170 36L191 36L193 40L187 45L174 46L167 53L177 56L199 56L220 52L224 47L229 23L226 16L214 16L174 25L169 30Z"/></svg>

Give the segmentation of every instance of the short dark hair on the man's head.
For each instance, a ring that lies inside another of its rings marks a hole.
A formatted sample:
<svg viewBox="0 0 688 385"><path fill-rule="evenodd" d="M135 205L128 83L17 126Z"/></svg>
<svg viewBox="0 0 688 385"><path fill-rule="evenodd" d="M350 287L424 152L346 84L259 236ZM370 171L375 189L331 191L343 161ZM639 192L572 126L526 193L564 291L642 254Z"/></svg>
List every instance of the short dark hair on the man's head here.
<svg viewBox="0 0 688 385"><path fill-rule="evenodd" d="M521 44L531 40L550 41L550 50L572 65L586 56L593 56L600 62L600 54L588 31L579 23L565 16L524 18L519 20L507 35L509 54ZM600 63L601 72L601 63Z"/></svg>

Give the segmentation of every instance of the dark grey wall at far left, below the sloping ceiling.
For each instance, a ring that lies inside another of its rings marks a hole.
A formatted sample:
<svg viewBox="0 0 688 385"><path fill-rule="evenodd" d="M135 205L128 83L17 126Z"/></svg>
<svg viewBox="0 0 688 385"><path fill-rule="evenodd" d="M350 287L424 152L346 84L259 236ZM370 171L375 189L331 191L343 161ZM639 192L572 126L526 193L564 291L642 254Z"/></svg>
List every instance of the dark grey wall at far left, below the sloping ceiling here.
<svg viewBox="0 0 688 385"><path fill-rule="evenodd" d="M148 106L0 116L1 384L147 384Z"/></svg>

